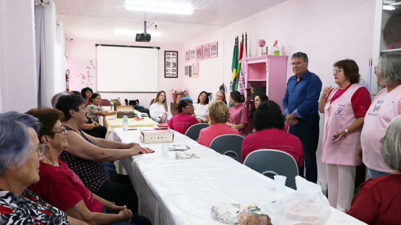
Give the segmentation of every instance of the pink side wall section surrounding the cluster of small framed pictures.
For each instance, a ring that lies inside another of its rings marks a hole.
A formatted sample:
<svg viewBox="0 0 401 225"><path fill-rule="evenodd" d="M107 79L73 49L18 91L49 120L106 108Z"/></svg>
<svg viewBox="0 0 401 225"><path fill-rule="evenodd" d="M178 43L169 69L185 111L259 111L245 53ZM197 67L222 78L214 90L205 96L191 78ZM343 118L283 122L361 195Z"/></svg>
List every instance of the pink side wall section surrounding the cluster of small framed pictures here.
<svg viewBox="0 0 401 225"><path fill-rule="evenodd" d="M224 28L213 31L183 45L182 52L185 52L185 50L195 49L197 46L216 41L218 41L218 57L184 62L182 63L183 66L180 66L182 71L184 71L184 65L190 65L192 62L199 62L199 77L181 75L181 77L183 77L183 86L188 89L187 94L193 100L197 101L197 96L200 91L203 90L212 92L214 99L216 97L216 92L219 90L219 86L223 84ZM227 87L229 88L229 86ZM227 93L229 93L229 91L230 90L228 90Z"/></svg>

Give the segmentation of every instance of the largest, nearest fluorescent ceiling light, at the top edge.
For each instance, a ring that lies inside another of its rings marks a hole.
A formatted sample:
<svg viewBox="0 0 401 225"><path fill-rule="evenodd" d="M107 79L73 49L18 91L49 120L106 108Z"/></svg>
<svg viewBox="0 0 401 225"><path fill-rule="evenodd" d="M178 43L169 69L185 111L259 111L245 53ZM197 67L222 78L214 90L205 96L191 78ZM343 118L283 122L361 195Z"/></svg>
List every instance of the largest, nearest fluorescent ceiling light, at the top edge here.
<svg viewBox="0 0 401 225"><path fill-rule="evenodd" d="M157 5L155 7L154 5ZM190 5L183 4L166 4L166 3L155 3L148 1L138 1L138 0L126 0L124 4L122 4L123 8L129 10L137 10L137 11L153 11L153 12L165 12L165 13L175 13L175 14L186 14L190 15L193 13L193 10Z"/></svg>

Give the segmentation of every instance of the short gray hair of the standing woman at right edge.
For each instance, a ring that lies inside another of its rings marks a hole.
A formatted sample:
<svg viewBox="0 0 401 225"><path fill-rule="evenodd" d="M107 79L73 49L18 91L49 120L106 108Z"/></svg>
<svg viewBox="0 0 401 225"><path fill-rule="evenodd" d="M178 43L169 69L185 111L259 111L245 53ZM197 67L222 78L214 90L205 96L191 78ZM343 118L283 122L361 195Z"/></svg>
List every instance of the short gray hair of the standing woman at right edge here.
<svg viewBox="0 0 401 225"><path fill-rule="evenodd" d="M401 53L390 52L383 54L377 63L377 77L380 84L401 84Z"/></svg>

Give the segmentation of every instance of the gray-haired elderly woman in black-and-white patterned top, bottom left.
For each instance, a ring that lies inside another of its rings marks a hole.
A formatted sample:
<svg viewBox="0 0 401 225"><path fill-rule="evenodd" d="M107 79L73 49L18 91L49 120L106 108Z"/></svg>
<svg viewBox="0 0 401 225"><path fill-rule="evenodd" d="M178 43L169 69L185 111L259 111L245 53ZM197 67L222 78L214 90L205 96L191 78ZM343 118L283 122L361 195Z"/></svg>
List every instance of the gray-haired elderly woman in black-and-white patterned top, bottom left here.
<svg viewBox="0 0 401 225"><path fill-rule="evenodd" d="M26 189L39 181L39 161L45 159L45 145L37 136L40 127L31 115L0 114L0 223L87 224Z"/></svg>

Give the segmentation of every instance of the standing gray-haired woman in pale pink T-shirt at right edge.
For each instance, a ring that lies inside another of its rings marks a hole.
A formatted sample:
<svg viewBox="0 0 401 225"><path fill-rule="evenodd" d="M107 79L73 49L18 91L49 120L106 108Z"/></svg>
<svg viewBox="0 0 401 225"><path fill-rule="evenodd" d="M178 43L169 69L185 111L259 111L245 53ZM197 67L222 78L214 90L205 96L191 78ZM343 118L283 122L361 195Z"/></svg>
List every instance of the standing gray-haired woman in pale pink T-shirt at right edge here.
<svg viewBox="0 0 401 225"><path fill-rule="evenodd" d="M395 172L380 154L380 139L391 121L401 114L401 53L387 53L374 67L377 84L385 86L374 98L364 118L358 153L368 168L369 178ZM362 153L362 155L361 155Z"/></svg>

